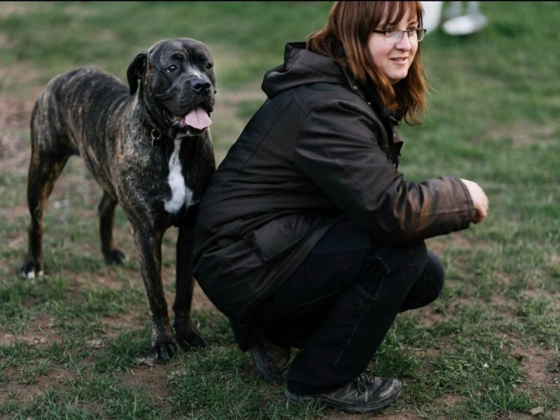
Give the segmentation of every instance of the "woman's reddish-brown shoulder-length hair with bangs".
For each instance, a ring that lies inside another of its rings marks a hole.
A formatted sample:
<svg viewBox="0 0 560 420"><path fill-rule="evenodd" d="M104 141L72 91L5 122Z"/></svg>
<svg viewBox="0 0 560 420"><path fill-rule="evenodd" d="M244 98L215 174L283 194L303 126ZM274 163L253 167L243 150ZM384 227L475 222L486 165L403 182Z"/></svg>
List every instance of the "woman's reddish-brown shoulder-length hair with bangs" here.
<svg viewBox="0 0 560 420"><path fill-rule="evenodd" d="M393 25L406 13L416 16L422 25L420 1L335 1L330 9L325 27L307 37L307 48L335 59L345 66L360 83L367 78L377 86L385 106L417 125L416 109L426 109L426 82L420 61L420 45L410 65L407 76L391 85L373 64L367 41L373 29ZM335 55L335 45L342 42L345 57Z"/></svg>

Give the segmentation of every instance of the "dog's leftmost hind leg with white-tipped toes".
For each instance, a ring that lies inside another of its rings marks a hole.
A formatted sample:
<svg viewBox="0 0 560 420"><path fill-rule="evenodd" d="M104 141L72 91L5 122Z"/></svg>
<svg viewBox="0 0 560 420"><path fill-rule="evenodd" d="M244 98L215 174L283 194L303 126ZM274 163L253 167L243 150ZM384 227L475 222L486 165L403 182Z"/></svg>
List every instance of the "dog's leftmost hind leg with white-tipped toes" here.
<svg viewBox="0 0 560 420"><path fill-rule="evenodd" d="M27 205L31 215L29 223L27 256L20 268L20 273L27 279L43 275L43 211L45 202L52 192L55 181L64 169L69 154L48 153L41 146L45 141L34 139L31 133L31 162L27 179Z"/></svg>

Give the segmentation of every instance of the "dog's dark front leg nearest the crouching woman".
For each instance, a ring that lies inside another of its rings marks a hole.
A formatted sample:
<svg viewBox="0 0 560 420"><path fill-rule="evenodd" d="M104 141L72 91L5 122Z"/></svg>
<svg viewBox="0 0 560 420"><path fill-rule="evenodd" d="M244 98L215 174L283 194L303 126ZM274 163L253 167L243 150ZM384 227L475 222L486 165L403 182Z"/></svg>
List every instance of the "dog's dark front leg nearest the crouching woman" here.
<svg viewBox="0 0 560 420"><path fill-rule="evenodd" d="M195 287L195 279L191 275L195 233L194 221L195 218L192 217L189 223L179 227L176 247L176 294L173 305L175 321L173 326L177 335L177 341L183 349L206 346L204 339L200 336L200 332L198 332L190 316Z"/></svg>

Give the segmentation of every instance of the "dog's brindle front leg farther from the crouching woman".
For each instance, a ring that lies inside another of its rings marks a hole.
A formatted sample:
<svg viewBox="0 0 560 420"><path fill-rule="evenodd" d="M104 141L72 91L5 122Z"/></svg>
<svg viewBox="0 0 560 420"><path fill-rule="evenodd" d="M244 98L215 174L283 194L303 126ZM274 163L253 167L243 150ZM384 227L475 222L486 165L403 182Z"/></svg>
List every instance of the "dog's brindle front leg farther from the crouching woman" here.
<svg viewBox="0 0 560 420"><path fill-rule="evenodd" d="M152 350L155 358L166 361L175 356L179 346L169 323L161 278L163 232L147 232L146 228L133 228L133 234L152 316Z"/></svg>

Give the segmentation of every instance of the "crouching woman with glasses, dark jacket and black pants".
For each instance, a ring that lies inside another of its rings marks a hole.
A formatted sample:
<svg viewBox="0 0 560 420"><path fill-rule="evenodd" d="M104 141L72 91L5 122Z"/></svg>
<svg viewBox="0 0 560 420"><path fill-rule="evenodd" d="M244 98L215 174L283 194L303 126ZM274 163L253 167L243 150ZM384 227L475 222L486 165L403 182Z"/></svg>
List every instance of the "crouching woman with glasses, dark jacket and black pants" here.
<svg viewBox="0 0 560 420"><path fill-rule="evenodd" d="M265 74L268 99L202 200L195 276L262 377L288 370L291 402L393 401L398 379L362 373L396 314L442 289L423 239L486 216L476 183L397 171L394 126L424 106L421 24L419 2L335 3Z"/></svg>

